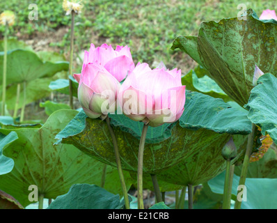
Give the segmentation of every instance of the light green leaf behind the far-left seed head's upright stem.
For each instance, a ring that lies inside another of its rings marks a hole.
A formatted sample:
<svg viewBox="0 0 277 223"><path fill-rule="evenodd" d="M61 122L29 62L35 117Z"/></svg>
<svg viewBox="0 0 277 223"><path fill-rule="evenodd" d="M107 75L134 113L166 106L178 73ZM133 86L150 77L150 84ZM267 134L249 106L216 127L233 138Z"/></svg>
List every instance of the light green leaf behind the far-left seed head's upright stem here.
<svg viewBox="0 0 277 223"><path fill-rule="evenodd" d="M44 62L34 52L24 49L8 52L7 84L30 82L40 77L51 77L61 70L68 70L68 62ZM2 77L3 52L0 52L0 82L2 82Z"/></svg>

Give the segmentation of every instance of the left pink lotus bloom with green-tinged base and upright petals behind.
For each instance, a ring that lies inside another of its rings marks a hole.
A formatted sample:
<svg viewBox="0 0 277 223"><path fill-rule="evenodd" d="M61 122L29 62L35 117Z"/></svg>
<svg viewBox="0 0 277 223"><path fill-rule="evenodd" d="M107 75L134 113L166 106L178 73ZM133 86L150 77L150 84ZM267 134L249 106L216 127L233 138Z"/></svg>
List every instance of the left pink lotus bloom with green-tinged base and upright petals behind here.
<svg viewBox="0 0 277 223"><path fill-rule="evenodd" d="M90 118L106 117L116 110L116 98L120 82L134 70L134 62L129 47L103 44L85 51L81 74L74 74L79 82L78 99L86 115ZM104 114L104 116L103 116Z"/></svg>

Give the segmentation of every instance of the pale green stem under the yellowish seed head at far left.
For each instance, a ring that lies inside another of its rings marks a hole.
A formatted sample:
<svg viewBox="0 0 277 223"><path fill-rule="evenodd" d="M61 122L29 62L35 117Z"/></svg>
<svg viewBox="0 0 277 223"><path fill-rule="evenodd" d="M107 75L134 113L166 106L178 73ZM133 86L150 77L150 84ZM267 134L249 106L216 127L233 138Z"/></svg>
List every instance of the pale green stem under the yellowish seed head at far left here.
<svg viewBox="0 0 277 223"><path fill-rule="evenodd" d="M5 115L6 103L6 77L7 77L7 54L8 54L8 24L5 27L4 33L4 56L3 56L3 83L2 83L2 110L1 116Z"/></svg>

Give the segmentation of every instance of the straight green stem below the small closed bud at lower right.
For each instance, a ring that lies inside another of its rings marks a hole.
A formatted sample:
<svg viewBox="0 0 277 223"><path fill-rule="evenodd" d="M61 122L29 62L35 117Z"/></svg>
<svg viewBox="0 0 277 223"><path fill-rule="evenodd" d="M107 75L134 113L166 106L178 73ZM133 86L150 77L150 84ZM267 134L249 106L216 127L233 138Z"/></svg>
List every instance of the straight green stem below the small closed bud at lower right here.
<svg viewBox="0 0 277 223"><path fill-rule="evenodd" d="M234 175L234 165L231 165L231 160L226 160L225 183L223 192L223 209L230 209L232 196L232 177Z"/></svg>

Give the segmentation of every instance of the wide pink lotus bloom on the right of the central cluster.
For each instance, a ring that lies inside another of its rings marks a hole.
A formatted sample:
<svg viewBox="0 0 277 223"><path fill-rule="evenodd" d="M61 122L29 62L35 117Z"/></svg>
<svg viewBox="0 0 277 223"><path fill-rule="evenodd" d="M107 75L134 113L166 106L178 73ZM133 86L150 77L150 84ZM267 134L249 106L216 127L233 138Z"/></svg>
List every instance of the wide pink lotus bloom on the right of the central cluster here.
<svg viewBox="0 0 277 223"><path fill-rule="evenodd" d="M155 127L177 121L184 112L185 87L181 70L156 68L138 63L118 93L122 112L134 121Z"/></svg>

